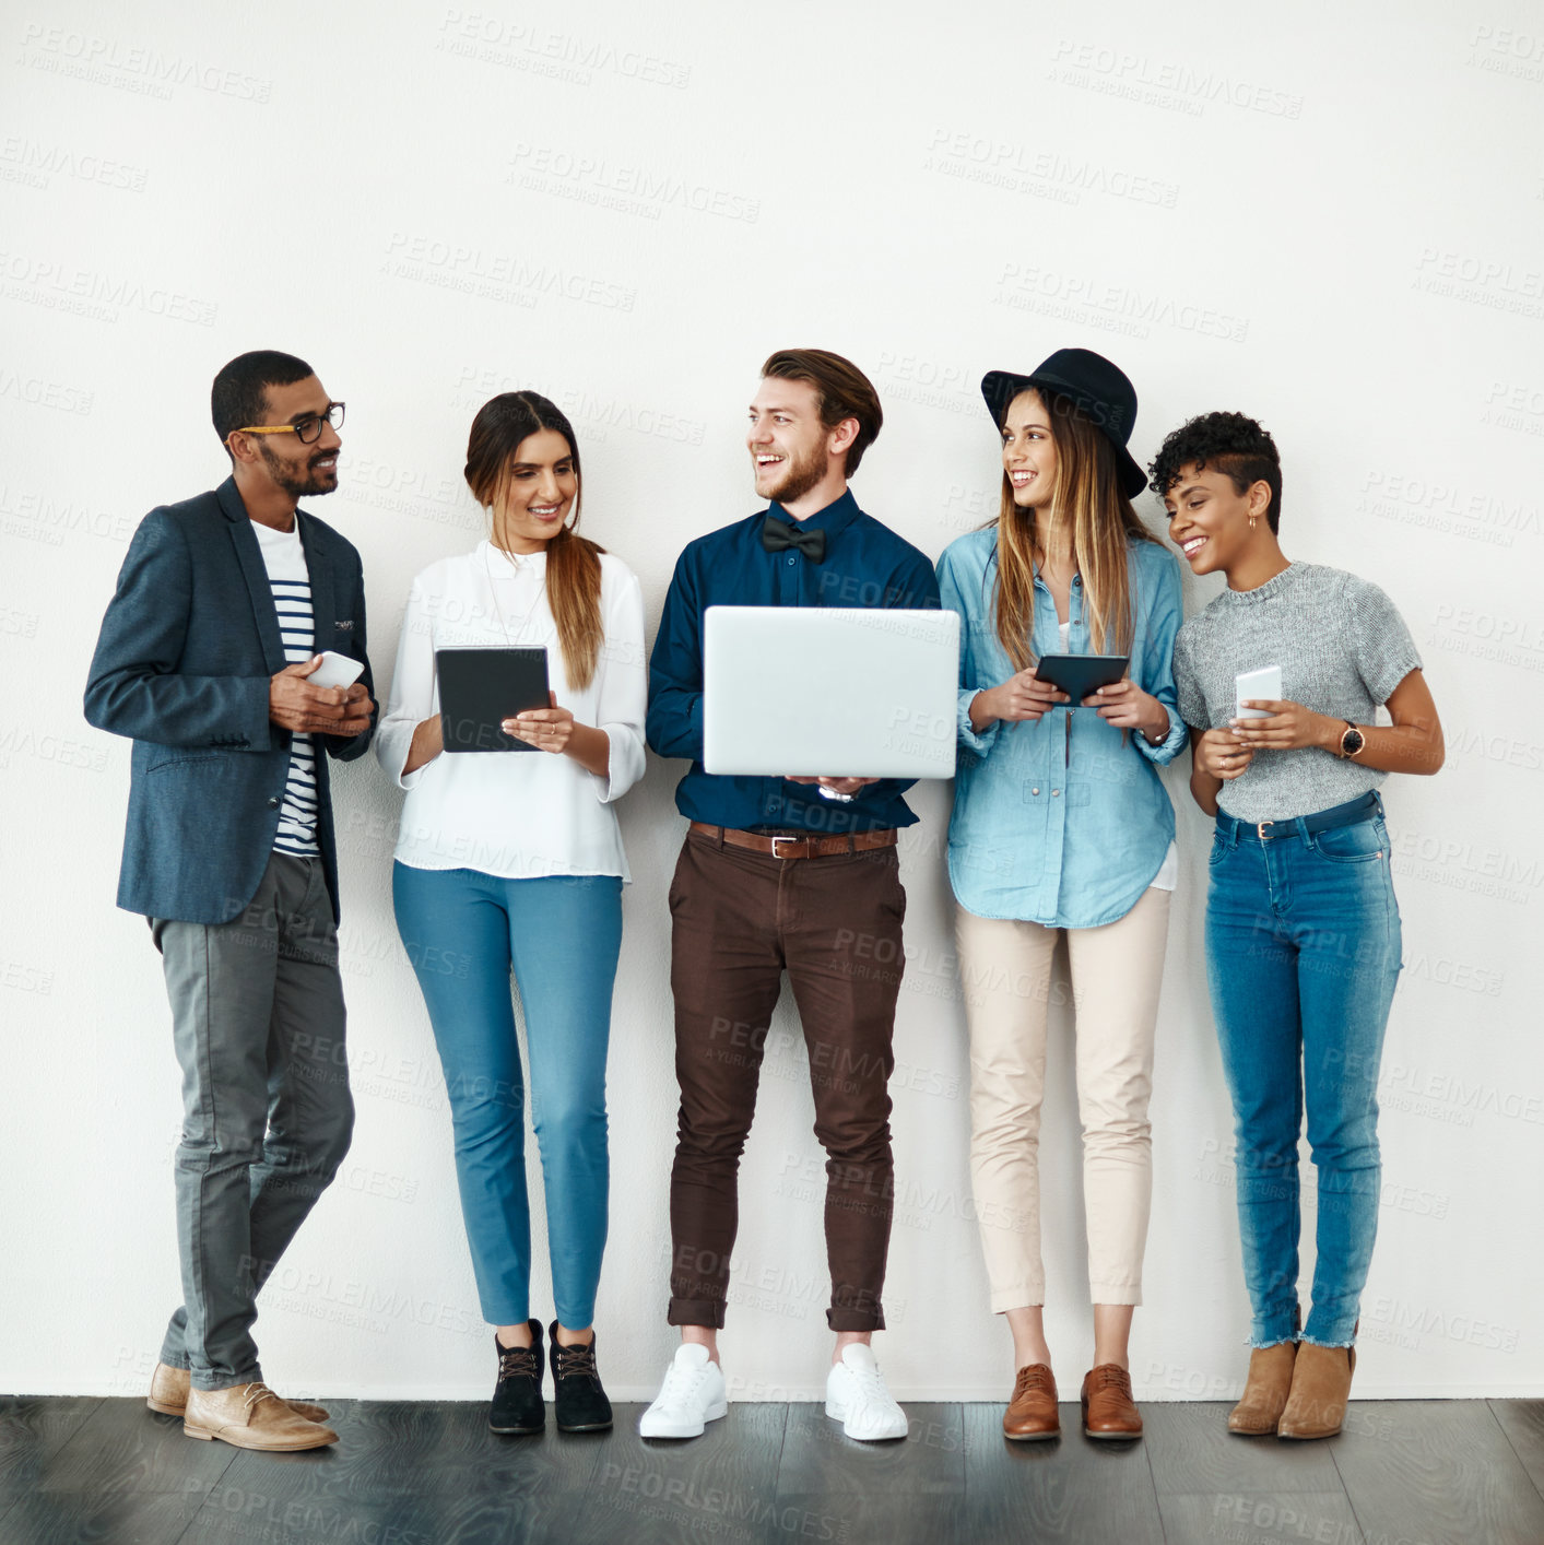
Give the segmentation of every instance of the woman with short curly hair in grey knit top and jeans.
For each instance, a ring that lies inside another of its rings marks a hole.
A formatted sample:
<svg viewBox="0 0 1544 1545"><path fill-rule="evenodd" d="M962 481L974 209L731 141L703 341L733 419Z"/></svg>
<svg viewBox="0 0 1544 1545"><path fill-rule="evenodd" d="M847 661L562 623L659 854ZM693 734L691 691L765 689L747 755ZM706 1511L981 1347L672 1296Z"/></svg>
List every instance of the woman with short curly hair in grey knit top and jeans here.
<svg viewBox="0 0 1544 1545"><path fill-rule="evenodd" d="M1241 413L1175 430L1151 467L1168 535L1227 589L1175 643L1190 793L1216 817L1212 1010L1238 1136L1253 1309L1243 1435L1338 1432L1351 1397L1382 1166L1377 1074L1400 966L1388 772L1436 772L1442 726L1394 603L1281 552L1281 459ZM1270 692L1247 677L1275 672ZM1243 701L1240 701L1243 698ZM1393 725L1376 725L1385 706ZM1298 1310L1298 1134L1318 1176L1312 1307Z"/></svg>

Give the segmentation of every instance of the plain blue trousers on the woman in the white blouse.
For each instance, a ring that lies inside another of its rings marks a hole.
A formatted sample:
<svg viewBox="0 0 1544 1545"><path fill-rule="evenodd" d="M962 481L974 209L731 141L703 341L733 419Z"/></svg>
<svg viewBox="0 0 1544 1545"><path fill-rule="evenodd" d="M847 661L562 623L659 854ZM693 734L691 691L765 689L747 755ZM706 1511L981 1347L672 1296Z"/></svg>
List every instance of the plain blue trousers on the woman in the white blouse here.
<svg viewBox="0 0 1544 1545"><path fill-rule="evenodd" d="M553 1307L564 1326L583 1329L595 1318L606 1248L606 1048L621 881L499 879L394 864L391 896L445 1069L482 1318L493 1326L530 1318L525 1085L513 969L525 1012Z"/></svg>

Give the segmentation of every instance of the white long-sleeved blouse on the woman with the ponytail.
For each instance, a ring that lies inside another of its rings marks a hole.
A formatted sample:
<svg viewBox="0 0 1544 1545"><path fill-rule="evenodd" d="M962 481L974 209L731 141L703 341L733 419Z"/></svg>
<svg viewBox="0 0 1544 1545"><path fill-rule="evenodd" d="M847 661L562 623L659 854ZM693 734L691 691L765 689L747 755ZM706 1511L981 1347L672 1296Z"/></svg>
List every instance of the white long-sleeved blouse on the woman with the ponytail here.
<svg viewBox="0 0 1544 1545"><path fill-rule="evenodd" d="M569 686L558 626L547 603L547 555L505 553L488 541L430 564L408 593L397 669L376 731L380 765L408 791L396 857L411 868L473 868L501 879L549 874L620 874L621 847L612 802L643 776L648 672L643 590L610 553L601 559L604 643L595 677ZM434 650L505 644L547 647L549 683L581 725L604 729L604 777L550 751L440 752L403 774L413 731L439 712Z"/></svg>

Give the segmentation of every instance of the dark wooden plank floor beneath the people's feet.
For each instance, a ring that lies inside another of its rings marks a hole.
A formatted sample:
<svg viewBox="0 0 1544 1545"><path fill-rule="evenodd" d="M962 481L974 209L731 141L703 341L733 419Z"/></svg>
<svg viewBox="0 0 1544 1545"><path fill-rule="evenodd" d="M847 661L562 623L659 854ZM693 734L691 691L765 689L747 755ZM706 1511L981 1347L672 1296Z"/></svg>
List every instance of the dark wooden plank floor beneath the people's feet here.
<svg viewBox="0 0 1544 1545"><path fill-rule="evenodd" d="M1232 1438L1226 1404L1142 1407L1141 1443L1002 1438L1000 1406L909 1404L850 1443L813 1404L739 1404L694 1443L495 1438L482 1406L340 1401L342 1441L249 1454L138 1400L0 1398L0 1545L1544 1545L1544 1401L1352 1404L1325 1443Z"/></svg>

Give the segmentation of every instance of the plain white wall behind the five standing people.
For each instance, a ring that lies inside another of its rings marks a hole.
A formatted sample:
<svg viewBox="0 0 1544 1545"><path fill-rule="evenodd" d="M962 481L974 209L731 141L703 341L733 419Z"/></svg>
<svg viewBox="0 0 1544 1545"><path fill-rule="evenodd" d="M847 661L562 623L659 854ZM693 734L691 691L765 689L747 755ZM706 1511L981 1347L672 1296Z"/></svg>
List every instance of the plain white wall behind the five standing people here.
<svg viewBox="0 0 1544 1545"><path fill-rule="evenodd" d="M342 488L317 513L365 556L385 688L410 578L478 535L459 467L485 397L529 385L570 409L586 528L641 575L652 627L680 547L754 508L743 405L784 345L870 371L887 420L856 493L929 555L995 502L983 371L1085 345L1138 383L1141 457L1192 413L1258 416L1284 454L1287 552L1396 598L1450 751L1440 777L1386 789L1406 969L1357 1384L1544 1389L1525 1290L1544 1265L1539 6L478 3L32 0L0 22L0 1389L136 1392L178 1293L167 1007L144 922L113 907L128 745L83 723L80 691L136 521L224 476L213 372L292 349L348 400ZM637 884L600 1327L634 1397L672 1344L678 771L651 763L621 808ZM1219 1397L1247 1312L1206 823L1167 782L1184 865L1133 1369L1139 1395ZM484 1397L444 1085L388 898L399 796L372 759L334 786L359 1134L263 1301L266 1370L289 1390ZM918 793L903 844L881 1355L903 1394L986 1398L1009 1363L969 1217L947 797ZM1048 1321L1076 1387L1091 1338L1056 1024ZM787 1007L774 1038L725 1338L743 1397L813 1394L825 1360Z"/></svg>

